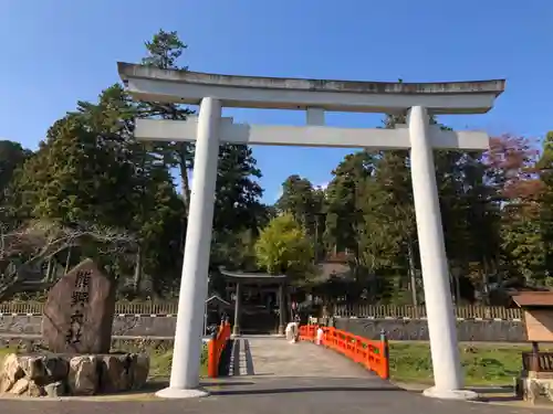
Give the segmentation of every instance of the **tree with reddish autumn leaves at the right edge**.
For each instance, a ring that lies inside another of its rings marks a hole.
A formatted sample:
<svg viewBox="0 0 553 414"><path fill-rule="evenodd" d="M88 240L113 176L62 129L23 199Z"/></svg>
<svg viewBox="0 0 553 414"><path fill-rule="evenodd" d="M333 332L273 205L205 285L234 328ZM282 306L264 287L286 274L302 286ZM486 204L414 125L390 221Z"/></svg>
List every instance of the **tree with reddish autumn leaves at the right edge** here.
<svg viewBox="0 0 553 414"><path fill-rule="evenodd" d="M488 160L502 202L504 268L529 284L550 285L553 181L549 150L538 148L533 140L505 135L492 141Z"/></svg>

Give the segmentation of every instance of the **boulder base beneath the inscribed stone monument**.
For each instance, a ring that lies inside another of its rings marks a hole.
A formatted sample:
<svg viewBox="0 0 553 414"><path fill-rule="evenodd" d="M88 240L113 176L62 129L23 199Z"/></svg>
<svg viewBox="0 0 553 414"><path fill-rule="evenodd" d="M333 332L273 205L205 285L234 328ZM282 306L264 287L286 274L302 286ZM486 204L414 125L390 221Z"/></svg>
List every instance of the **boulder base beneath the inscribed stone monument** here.
<svg viewBox="0 0 553 414"><path fill-rule="evenodd" d="M0 367L0 394L56 397L139 390L148 371L149 357L142 353L10 353Z"/></svg>

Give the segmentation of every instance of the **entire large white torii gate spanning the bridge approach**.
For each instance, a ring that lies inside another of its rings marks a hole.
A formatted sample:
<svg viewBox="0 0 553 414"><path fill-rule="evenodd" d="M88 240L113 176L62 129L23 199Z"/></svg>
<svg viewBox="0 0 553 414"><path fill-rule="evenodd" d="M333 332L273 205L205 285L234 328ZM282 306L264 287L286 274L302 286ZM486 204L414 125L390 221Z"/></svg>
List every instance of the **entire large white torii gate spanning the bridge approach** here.
<svg viewBox="0 0 553 414"><path fill-rule="evenodd" d="M428 396L471 399L463 390L448 262L436 185L432 149L486 150L482 131L440 131L428 114L483 114L504 91L505 82L375 83L250 77L167 71L118 63L119 76L139 100L199 105L199 116L185 121L137 119L139 140L196 141L194 183L186 234L177 328L169 388L157 395L206 395L199 389L204 299L211 243L217 162L221 141L344 148L410 148L410 167L420 263L425 288L435 386ZM306 126L233 124L222 107L299 109ZM408 125L396 129L332 128L325 112L398 114Z"/></svg>

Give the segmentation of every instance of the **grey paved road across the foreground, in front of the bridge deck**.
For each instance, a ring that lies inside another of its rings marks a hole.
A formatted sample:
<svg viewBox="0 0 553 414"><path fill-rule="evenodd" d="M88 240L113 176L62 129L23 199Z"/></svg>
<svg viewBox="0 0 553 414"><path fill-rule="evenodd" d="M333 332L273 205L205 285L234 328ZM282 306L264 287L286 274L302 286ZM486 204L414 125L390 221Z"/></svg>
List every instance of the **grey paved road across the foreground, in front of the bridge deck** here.
<svg viewBox="0 0 553 414"><path fill-rule="evenodd" d="M431 400L365 379L241 378L208 386L199 400L0 401L2 414L525 414L543 410Z"/></svg>

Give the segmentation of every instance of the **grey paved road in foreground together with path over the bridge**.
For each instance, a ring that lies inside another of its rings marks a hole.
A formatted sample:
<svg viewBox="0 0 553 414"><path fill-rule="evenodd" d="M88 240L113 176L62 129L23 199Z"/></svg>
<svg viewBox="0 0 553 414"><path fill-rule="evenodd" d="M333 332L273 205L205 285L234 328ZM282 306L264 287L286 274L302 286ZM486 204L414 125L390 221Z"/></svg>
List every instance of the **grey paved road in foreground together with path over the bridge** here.
<svg viewBox="0 0 553 414"><path fill-rule="evenodd" d="M269 342L270 341L270 342ZM0 401L2 414L500 414L519 408L432 400L400 390L355 363L309 343L243 338L250 372L204 383L211 395L198 400ZM248 350L249 349L249 350ZM252 372L253 371L253 372Z"/></svg>

